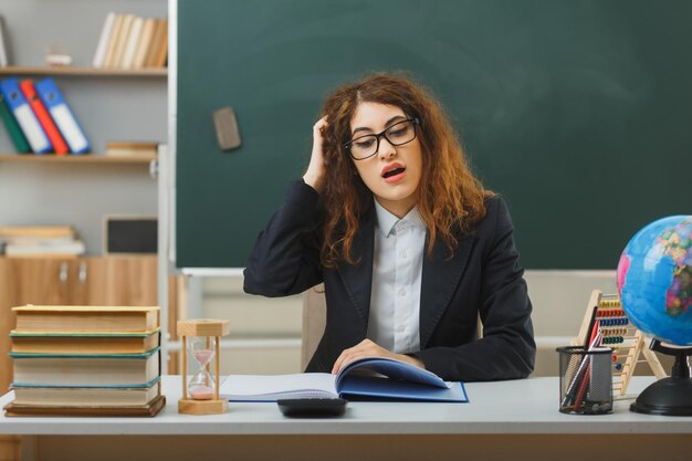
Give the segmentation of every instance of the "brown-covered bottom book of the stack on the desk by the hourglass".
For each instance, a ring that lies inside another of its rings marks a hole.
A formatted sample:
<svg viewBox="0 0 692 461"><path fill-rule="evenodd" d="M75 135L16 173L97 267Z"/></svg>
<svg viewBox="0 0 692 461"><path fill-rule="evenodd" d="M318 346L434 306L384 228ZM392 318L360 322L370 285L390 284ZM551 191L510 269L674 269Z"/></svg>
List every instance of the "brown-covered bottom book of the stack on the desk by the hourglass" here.
<svg viewBox="0 0 692 461"><path fill-rule="evenodd" d="M166 397L159 395L145 405L134 406L46 406L10 402L4 407L4 416L85 416L85 417L153 417L166 406Z"/></svg>

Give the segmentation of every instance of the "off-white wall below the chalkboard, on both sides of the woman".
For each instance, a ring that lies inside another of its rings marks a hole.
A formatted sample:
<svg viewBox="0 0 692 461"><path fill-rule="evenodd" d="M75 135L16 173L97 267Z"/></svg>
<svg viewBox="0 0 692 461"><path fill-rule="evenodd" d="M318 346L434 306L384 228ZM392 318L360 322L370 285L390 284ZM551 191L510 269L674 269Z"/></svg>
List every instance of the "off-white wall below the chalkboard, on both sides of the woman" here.
<svg viewBox="0 0 692 461"><path fill-rule="evenodd" d="M526 282L538 345L534 375L557 375L555 347L577 335L593 290L616 293L615 271L527 271ZM298 373L302 303L247 295L241 277L199 277L190 290L195 315L231 319L223 374Z"/></svg>

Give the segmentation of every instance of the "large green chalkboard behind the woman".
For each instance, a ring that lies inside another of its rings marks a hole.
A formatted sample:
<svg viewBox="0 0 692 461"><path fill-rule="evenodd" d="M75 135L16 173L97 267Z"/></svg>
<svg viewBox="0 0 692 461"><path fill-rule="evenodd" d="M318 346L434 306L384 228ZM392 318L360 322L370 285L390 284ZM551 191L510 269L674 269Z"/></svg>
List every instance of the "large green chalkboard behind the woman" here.
<svg viewBox="0 0 692 461"><path fill-rule="evenodd" d="M244 266L324 96L405 70L507 200L524 266L614 269L644 223L692 214L690 24L688 0L178 0L176 264Z"/></svg>

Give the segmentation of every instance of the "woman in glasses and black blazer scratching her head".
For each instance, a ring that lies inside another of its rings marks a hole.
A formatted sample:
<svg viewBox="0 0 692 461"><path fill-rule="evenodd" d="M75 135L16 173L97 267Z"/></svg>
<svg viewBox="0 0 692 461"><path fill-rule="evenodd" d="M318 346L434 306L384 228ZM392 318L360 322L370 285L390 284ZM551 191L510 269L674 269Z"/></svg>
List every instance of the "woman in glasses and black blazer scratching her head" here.
<svg viewBox="0 0 692 461"><path fill-rule="evenodd" d="M244 271L245 292L265 296L324 282L326 327L306 371L387 356L448 380L528 376L532 306L512 221L439 103L374 74L326 99L313 139Z"/></svg>

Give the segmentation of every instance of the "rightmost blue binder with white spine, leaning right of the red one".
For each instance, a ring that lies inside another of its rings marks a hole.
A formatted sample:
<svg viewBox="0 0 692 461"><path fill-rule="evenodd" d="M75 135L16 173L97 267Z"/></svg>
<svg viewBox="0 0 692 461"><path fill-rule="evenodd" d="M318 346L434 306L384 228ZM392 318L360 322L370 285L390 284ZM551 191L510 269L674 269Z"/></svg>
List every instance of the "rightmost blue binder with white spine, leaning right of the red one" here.
<svg viewBox="0 0 692 461"><path fill-rule="evenodd" d="M57 128L67 142L72 154L90 151L91 145L53 78L46 77L38 82L35 88L53 121L55 121L55 125L57 125Z"/></svg>

